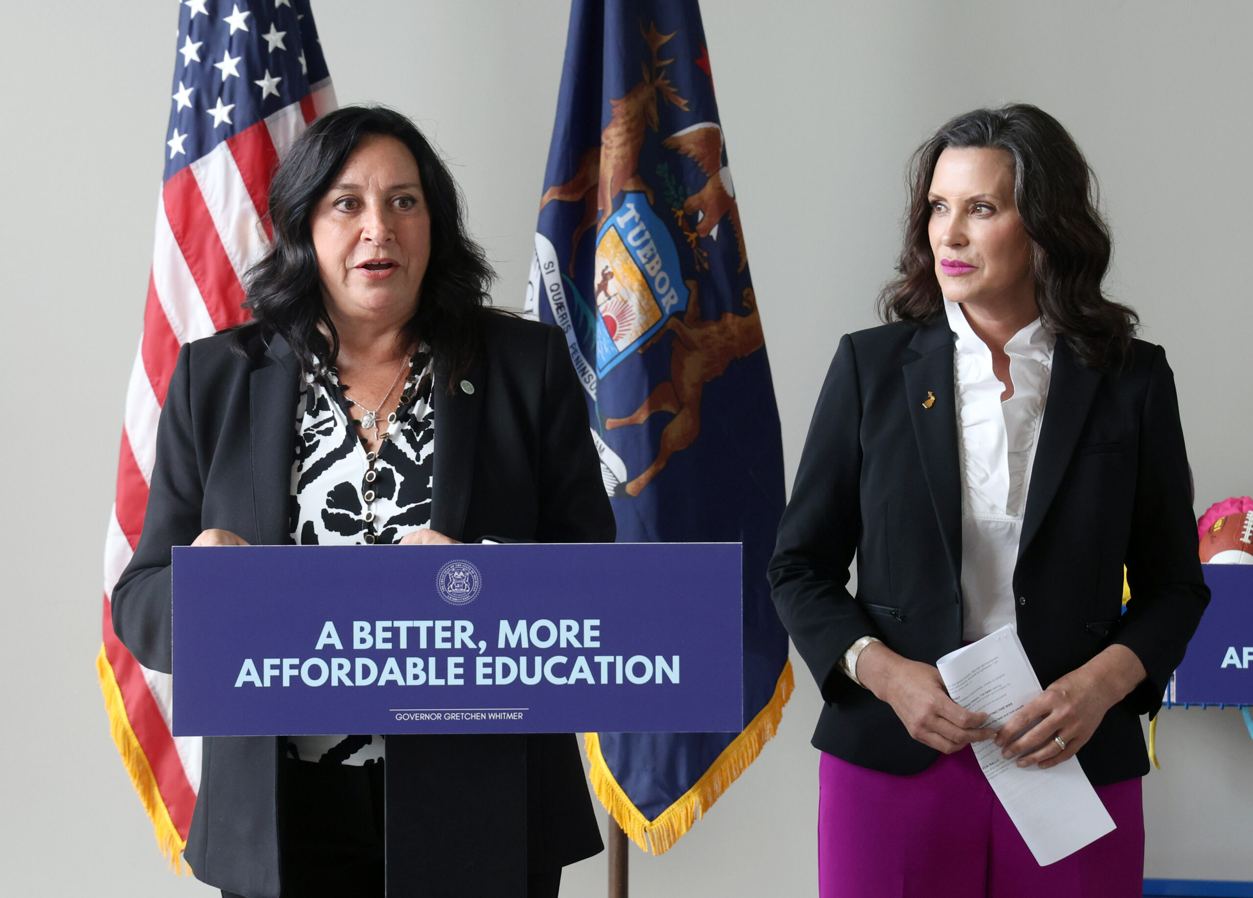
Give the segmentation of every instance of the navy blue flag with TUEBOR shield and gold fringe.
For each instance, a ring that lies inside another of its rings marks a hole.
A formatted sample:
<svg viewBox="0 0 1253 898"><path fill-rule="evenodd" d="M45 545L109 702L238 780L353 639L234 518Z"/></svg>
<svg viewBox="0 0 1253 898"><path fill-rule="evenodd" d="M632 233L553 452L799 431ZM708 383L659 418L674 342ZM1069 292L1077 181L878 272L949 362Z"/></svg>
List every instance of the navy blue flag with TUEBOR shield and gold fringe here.
<svg viewBox="0 0 1253 898"><path fill-rule="evenodd" d="M574 0L526 302L565 331L619 541L744 544L744 731L586 737L596 795L660 854L792 691L778 410L697 0Z"/></svg>

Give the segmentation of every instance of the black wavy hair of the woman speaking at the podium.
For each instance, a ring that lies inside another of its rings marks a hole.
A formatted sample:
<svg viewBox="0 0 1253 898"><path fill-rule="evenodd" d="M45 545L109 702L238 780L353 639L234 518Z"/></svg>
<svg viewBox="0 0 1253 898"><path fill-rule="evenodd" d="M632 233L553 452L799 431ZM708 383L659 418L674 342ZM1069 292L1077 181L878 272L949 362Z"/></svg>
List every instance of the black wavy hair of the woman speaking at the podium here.
<svg viewBox="0 0 1253 898"><path fill-rule="evenodd" d="M421 301L407 324L456 384L482 351L481 316L495 272L466 230L464 203L444 161L417 127L393 109L353 105L311 124L292 143L269 184L269 251L246 275L244 307L253 320L236 330L243 350L251 334L281 334L308 372L321 374L340 352L340 335L327 315L309 219L367 134L393 137L417 162L431 216L431 258Z"/></svg>

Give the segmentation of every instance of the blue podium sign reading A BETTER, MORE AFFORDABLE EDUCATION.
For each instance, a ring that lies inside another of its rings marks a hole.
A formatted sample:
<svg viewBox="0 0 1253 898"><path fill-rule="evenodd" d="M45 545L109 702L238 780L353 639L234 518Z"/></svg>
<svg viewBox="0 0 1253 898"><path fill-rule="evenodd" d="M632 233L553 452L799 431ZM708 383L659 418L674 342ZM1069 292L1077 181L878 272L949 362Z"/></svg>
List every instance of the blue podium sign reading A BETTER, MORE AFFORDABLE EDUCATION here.
<svg viewBox="0 0 1253 898"><path fill-rule="evenodd" d="M174 735L743 729L739 543L174 549Z"/></svg>

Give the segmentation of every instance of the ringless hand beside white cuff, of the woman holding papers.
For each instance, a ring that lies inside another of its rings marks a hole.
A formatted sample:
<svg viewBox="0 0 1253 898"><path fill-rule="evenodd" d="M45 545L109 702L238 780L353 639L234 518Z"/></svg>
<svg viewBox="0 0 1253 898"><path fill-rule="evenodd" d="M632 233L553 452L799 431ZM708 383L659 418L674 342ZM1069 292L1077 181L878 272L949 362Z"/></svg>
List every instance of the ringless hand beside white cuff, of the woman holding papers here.
<svg viewBox="0 0 1253 898"><path fill-rule="evenodd" d="M871 642L857 657L857 679L882 699L910 735L946 755L996 736L981 729L986 714L972 714L949 697L940 671L901 657L882 642Z"/></svg>

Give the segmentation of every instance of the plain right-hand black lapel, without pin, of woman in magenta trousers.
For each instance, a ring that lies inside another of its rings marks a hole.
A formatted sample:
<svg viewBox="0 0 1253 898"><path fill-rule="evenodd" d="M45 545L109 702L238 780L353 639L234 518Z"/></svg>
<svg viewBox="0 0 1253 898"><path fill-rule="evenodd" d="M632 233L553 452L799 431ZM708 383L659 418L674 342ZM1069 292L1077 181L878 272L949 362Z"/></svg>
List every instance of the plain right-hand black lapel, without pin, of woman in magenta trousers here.
<svg viewBox="0 0 1253 898"><path fill-rule="evenodd" d="M1053 504L1061 485L1061 478L1070 465L1079 434L1088 420L1101 374L1090 367L1080 367L1065 337L1058 336L1053 350L1053 376L1049 398L1044 406L1044 421L1035 446L1031 483L1022 513L1022 536L1019 539L1019 558L1031 543L1044 515Z"/></svg>

